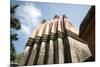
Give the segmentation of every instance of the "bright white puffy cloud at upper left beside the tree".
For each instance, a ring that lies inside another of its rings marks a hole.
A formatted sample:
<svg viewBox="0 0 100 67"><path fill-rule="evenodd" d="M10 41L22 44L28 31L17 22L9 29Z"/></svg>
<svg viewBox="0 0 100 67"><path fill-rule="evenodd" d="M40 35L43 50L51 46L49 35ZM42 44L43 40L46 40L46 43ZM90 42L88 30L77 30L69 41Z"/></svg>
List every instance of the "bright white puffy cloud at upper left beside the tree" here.
<svg viewBox="0 0 100 67"><path fill-rule="evenodd" d="M15 17L21 22L21 30L28 34L39 24L41 11L33 3L23 3L16 8Z"/></svg>

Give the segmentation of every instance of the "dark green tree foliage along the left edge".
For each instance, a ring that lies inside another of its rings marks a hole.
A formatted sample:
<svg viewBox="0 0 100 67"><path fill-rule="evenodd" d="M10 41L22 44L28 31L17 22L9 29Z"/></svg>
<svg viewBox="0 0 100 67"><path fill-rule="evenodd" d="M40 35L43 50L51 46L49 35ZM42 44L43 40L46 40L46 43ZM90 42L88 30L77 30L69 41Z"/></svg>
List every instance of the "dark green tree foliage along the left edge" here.
<svg viewBox="0 0 100 67"><path fill-rule="evenodd" d="M14 30L19 30L21 28L20 22L18 19L16 19L13 15L15 13L15 9L18 7L18 5L12 6L10 11L11 11L11 22L10 22L10 28ZM16 60L16 49L13 44L13 41L18 40L18 34L13 33L12 30L10 30L10 60L11 62L15 62Z"/></svg>

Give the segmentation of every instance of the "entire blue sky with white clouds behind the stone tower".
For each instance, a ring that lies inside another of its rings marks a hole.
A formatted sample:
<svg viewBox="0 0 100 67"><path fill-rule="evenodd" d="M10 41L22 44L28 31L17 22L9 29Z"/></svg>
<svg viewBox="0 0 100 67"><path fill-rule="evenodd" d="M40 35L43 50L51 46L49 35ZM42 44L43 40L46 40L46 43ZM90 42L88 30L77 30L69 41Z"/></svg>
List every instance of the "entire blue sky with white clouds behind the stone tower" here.
<svg viewBox="0 0 100 67"><path fill-rule="evenodd" d="M19 4L15 9L14 17L19 19L21 29L13 32L18 34L18 41L14 41L17 53L22 53L25 44L32 31L43 19L51 20L54 15L62 16L65 14L70 22L79 29L80 23L84 19L90 5L79 4L61 4L61 3L44 3L44 2L25 2L12 0L11 5Z"/></svg>

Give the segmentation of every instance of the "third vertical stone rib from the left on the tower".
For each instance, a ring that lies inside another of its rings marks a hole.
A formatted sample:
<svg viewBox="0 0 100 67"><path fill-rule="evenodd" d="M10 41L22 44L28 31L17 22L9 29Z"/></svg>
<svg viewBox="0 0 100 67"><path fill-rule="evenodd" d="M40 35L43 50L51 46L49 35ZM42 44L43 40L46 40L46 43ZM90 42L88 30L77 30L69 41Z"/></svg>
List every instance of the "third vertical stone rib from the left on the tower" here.
<svg viewBox="0 0 100 67"><path fill-rule="evenodd" d="M49 34L50 34L50 25L49 25L49 23L47 23L45 32L42 37L42 43L41 43L41 47L40 47L39 58L38 58L37 64L44 64L44 58L46 58L45 57L46 46L49 45L49 44L47 44L48 39L49 39L49 36L48 36Z"/></svg>

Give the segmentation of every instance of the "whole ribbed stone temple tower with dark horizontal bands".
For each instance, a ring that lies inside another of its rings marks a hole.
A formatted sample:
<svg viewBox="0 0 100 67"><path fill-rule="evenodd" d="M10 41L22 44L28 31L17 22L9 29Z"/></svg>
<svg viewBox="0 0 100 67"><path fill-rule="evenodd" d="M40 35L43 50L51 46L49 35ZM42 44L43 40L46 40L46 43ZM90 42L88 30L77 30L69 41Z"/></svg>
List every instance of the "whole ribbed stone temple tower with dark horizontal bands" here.
<svg viewBox="0 0 100 67"><path fill-rule="evenodd" d="M33 31L25 46L21 65L62 64L83 62L90 50L68 18L57 15L43 20Z"/></svg>

